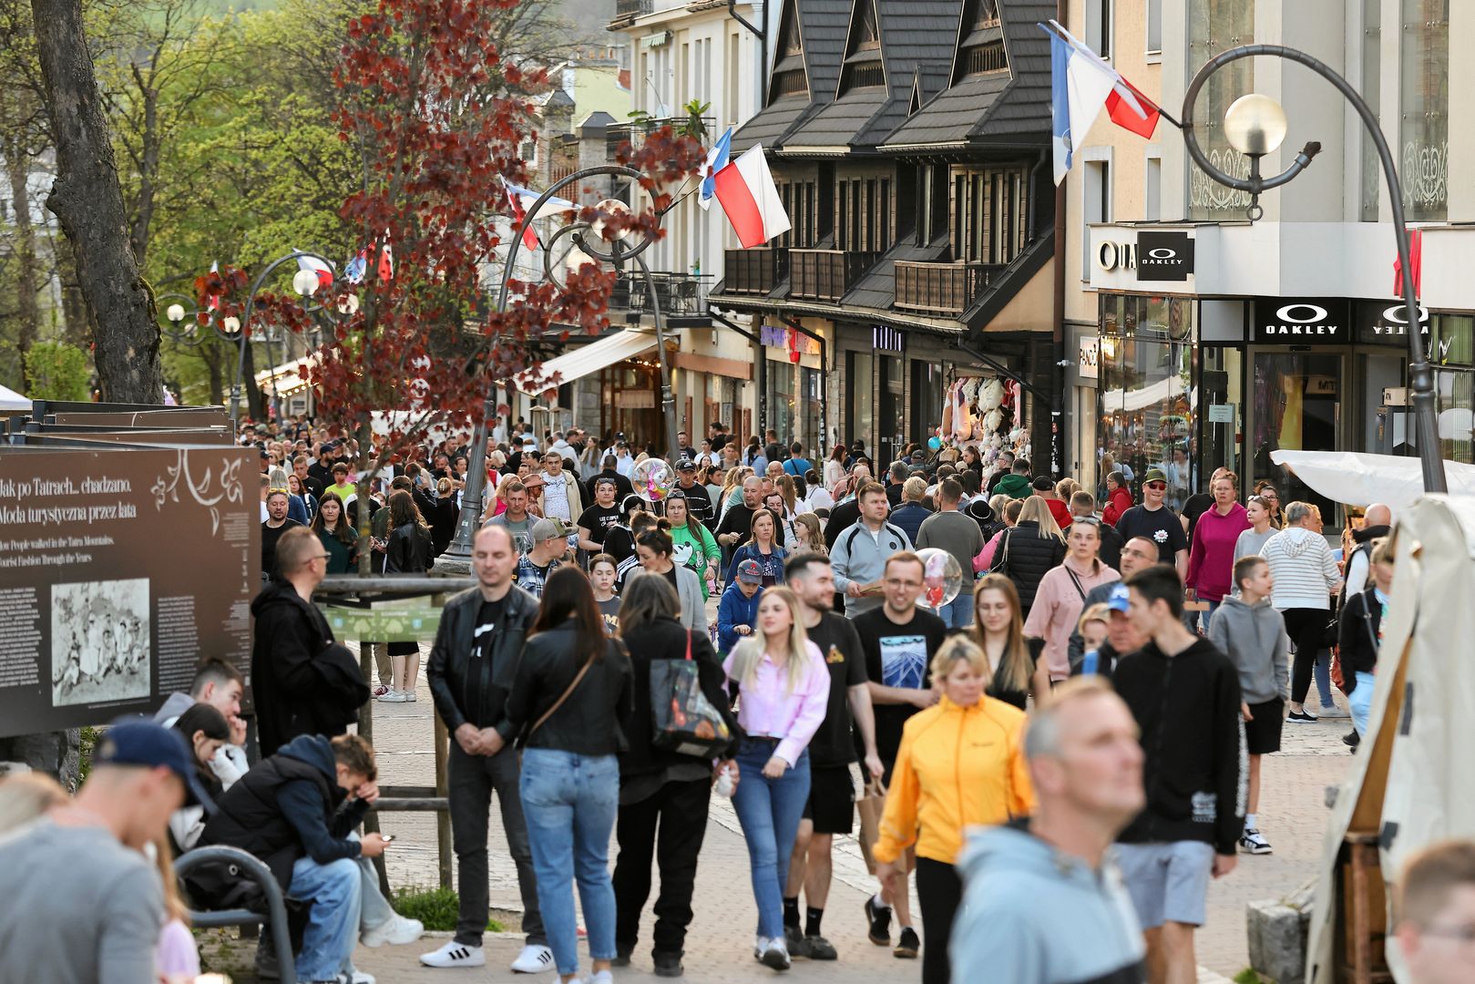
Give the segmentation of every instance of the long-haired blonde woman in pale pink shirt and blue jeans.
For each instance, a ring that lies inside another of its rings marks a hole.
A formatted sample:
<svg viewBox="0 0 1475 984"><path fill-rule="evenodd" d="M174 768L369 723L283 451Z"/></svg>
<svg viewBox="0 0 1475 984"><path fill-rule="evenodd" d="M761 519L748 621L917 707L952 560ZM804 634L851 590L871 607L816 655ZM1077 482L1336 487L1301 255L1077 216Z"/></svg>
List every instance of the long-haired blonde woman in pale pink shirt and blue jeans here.
<svg viewBox="0 0 1475 984"><path fill-rule="evenodd" d="M829 704L829 668L810 642L799 599L786 587L764 590L758 633L743 639L723 662L729 689L740 704L738 745L742 782L733 810L748 839L758 937L752 954L774 971L789 969L783 941L783 882L810 798L810 739Z"/></svg>

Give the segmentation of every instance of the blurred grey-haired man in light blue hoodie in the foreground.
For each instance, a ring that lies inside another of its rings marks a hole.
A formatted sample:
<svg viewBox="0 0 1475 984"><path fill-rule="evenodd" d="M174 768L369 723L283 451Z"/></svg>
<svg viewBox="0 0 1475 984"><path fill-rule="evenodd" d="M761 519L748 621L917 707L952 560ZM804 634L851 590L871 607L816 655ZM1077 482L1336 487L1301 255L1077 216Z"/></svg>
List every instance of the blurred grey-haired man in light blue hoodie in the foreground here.
<svg viewBox="0 0 1475 984"><path fill-rule="evenodd" d="M953 981L1142 984L1142 926L1111 856L1146 803L1131 711L1106 677L1072 677L1037 708L1025 755L1032 820L972 832L957 860Z"/></svg>

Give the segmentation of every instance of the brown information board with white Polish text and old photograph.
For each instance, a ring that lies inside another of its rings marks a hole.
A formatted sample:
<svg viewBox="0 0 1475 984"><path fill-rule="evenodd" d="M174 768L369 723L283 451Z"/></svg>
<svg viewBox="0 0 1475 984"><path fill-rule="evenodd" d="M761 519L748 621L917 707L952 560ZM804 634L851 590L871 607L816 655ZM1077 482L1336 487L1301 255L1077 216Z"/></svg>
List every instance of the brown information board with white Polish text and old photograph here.
<svg viewBox="0 0 1475 984"><path fill-rule="evenodd" d="M0 736L152 713L251 662L249 448L0 448Z"/></svg>

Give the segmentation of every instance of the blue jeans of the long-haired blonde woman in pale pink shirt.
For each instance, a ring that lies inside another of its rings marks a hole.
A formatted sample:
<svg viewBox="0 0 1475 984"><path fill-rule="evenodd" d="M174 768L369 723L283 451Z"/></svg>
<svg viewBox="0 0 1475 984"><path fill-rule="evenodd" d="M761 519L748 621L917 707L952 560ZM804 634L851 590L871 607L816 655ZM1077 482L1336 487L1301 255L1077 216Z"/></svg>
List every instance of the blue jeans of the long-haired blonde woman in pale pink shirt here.
<svg viewBox="0 0 1475 984"><path fill-rule="evenodd" d="M804 804L810 798L810 754L799 755L777 779L763 775L774 744L743 739L738 749L738 791L733 810L748 841L752 897L758 903L758 935L783 938L783 882L789 856L799 832Z"/></svg>

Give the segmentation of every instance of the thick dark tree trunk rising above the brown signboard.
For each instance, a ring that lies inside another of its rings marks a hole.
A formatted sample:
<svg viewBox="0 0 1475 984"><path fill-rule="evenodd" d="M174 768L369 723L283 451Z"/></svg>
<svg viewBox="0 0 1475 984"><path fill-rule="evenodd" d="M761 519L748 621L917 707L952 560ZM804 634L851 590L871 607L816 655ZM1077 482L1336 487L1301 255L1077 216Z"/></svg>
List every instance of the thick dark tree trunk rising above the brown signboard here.
<svg viewBox="0 0 1475 984"><path fill-rule="evenodd" d="M102 398L162 403L153 297L128 243L128 218L83 30L81 0L31 0L58 177L46 207L77 255L94 326Z"/></svg>

